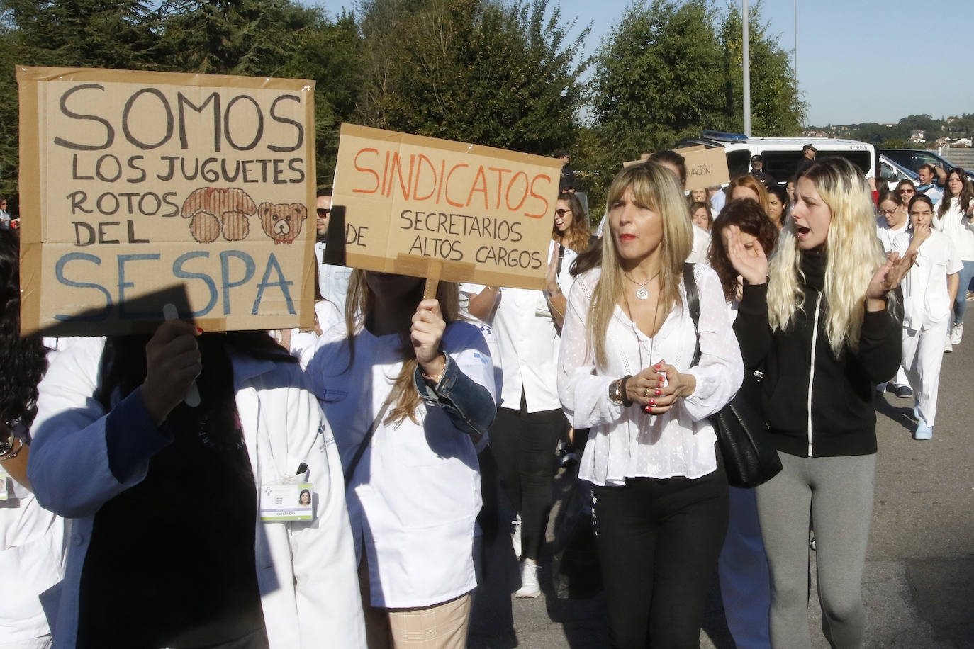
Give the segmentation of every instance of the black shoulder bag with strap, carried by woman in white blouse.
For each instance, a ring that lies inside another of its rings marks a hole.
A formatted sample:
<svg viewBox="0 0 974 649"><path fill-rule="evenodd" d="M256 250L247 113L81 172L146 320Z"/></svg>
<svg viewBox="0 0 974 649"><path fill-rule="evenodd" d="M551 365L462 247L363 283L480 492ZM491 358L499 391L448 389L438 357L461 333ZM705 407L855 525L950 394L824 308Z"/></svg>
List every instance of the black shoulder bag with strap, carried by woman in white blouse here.
<svg viewBox="0 0 974 649"><path fill-rule="evenodd" d="M683 285L687 291L687 305L693 318L696 346L691 367L700 362L700 295L693 281L693 265L683 271ZM717 446L724 458L728 484L731 487L752 488L763 485L781 471L781 458L768 440L768 424L761 409L761 372L744 373L740 389L727 406L714 415L710 423L717 431Z"/></svg>

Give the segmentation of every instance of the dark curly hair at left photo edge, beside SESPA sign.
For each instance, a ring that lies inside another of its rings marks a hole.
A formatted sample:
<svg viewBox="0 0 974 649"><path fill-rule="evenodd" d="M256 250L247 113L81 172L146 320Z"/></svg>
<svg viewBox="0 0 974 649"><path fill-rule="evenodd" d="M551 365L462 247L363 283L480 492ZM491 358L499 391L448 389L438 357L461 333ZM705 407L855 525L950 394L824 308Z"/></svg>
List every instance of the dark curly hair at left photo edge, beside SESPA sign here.
<svg viewBox="0 0 974 649"><path fill-rule="evenodd" d="M29 426L48 362L40 338L20 338L19 241L16 230L0 228L0 418Z"/></svg>

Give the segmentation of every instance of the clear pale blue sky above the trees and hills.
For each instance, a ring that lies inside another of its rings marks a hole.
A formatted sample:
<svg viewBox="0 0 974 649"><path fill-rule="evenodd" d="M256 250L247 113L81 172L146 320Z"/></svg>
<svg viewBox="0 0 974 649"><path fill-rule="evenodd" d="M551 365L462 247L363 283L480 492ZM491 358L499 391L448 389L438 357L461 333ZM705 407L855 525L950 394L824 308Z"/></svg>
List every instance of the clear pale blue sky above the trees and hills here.
<svg viewBox="0 0 974 649"><path fill-rule="evenodd" d="M591 53L630 4L562 0L561 11L565 18L577 16L580 30L592 22L586 46ZM748 2L751 8L754 4ZM354 5L354 0L328 3L325 10L333 15ZM974 6L963 5L950 3L945 11L937 4L923 8L906 0L798 0L799 86L808 103L807 124L881 124L914 114L939 119L974 113L969 36ZM948 12L953 17L945 18ZM769 33L791 52L795 0L765 0L761 16ZM930 62L923 60L927 57ZM949 83L952 76L955 82Z"/></svg>

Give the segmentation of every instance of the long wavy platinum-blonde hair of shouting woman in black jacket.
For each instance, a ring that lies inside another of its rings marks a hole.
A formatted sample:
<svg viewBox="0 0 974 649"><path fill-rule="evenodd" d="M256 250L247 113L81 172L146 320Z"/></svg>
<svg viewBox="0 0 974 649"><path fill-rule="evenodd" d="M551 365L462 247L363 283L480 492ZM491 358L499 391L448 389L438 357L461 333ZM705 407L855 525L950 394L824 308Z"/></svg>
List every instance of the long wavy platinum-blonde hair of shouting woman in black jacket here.
<svg viewBox="0 0 974 649"><path fill-rule="evenodd" d="M859 347L866 289L885 255L876 235L871 190L858 167L843 158L829 158L809 166L802 178L811 181L832 213L822 297L825 334L838 356L845 344ZM787 219L768 269L768 321L774 330L786 329L803 306L801 261L795 223Z"/></svg>

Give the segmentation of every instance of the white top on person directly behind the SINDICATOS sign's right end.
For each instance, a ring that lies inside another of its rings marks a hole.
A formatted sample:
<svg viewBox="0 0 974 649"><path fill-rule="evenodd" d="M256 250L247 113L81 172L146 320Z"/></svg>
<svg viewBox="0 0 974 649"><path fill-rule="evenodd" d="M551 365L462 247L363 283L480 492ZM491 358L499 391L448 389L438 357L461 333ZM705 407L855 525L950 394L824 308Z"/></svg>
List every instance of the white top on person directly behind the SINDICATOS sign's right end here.
<svg viewBox="0 0 974 649"><path fill-rule="evenodd" d="M552 241L548 255L555 245ZM566 248L558 273L558 286L566 298L574 282L569 269L576 257L573 250ZM465 283L460 290L472 297L484 287ZM501 407L518 410L523 388L529 413L561 408L555 386L559 336L543 291L502 288L488 324L493 329L498 353L494 364L501 368L504 381Z"/></svg>

